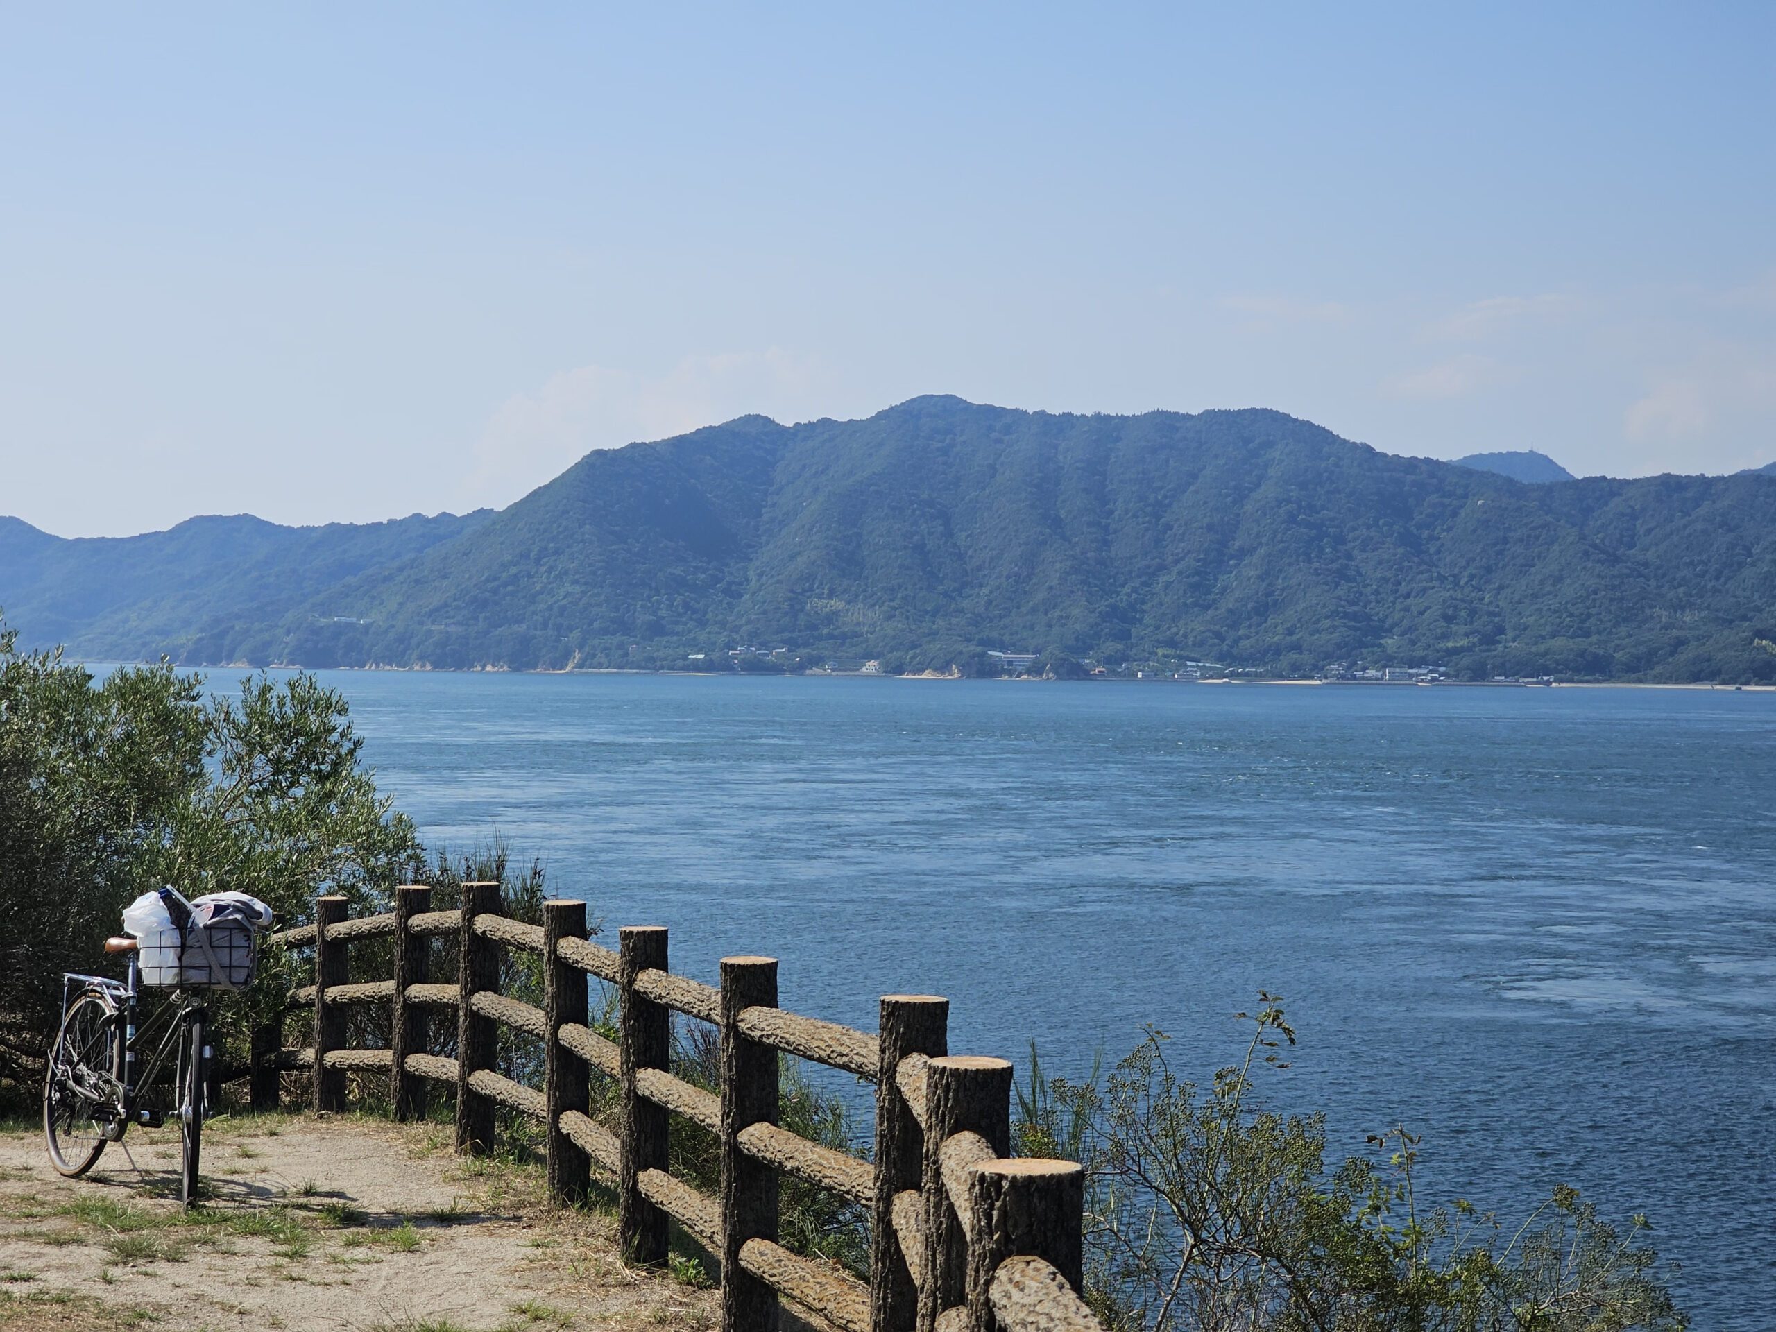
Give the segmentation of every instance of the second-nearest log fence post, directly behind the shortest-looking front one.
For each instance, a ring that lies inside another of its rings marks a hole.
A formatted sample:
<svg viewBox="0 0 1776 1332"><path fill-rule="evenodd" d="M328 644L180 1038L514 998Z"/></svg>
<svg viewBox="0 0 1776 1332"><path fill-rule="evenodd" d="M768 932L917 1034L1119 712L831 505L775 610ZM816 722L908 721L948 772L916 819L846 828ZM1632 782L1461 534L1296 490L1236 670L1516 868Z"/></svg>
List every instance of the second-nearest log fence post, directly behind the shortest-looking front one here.
<svg viewBox="0 0 1776 1332"><path fill-rule="evenodd" d="M925 1280L918 1291L920 1332L968 1298L968 1245L963 1222L943 1186L943 1144L979 1133L995 1156L1011 1156L1011 1064L1003 1058L950 1055L925 1069Z"/></svg>

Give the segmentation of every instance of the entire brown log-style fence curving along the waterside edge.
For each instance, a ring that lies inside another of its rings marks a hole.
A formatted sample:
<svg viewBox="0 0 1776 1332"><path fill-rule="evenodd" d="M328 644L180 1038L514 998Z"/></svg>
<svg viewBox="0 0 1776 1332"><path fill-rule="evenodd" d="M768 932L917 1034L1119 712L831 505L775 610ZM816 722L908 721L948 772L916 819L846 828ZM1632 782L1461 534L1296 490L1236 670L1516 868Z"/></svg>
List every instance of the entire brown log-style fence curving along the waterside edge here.
<svg viewBox="0 0 1776 1332"><path fill-rule="evenodd" d="M432 940L456 940L456 980L428 975ZM352 982L348 948L394 940L394 977ZM778 1007L776 959L725 957L721 984L666 970L659 925L625 927L618 950L586 938L583 902L543 904L543 924L501 915L499 884L464 884L462 908L433 911L432 890L401 886L394 909L348 918L346 899L316 899L314 924L272 934L314 950L314 984L288 1009L314 1009L313 1044L282 1046L282 1025L254 1032L254 1108L275 1108L281 1073L305 1071L316 1110L343 1110L346 1074L385 1074L400 1119L455 1096L456 1149L494 1149L496 1106L540 1122L551 1199L584 1201L593 1174L616 1192L618 1234L638 1265L664 1263L668 1220L721 1270L723 1332L769 1332L780 1300L840 1332L1101 1332L1080 1296L1083 1172L1073 1162L1011 1156L1011 1076L1002 1058L948 1053L948 1000L886 995L877 1032ZM499 993L504 952L542 963L543 1005ZM588 980L616 989L616 1041L590 1023ZM346 1046L348 1011L389 1005L391 1048ZM719 1096L671 1073L671 1021L719 1034ZM456 1057L430 1053L433 1023L456 1028ZM542 1089L496 1067L499 1028L536 1037ZM780 1062L794 1055L876 1090L870 1160L810 1142L778 1122ZM620 1108L591 1117L590 1080L609 1078ZM716 1135L719 1197L670 1172L678 1115ZM868 1280L778 1241L778 1179L790 1174L870 1217Z"/></svg>

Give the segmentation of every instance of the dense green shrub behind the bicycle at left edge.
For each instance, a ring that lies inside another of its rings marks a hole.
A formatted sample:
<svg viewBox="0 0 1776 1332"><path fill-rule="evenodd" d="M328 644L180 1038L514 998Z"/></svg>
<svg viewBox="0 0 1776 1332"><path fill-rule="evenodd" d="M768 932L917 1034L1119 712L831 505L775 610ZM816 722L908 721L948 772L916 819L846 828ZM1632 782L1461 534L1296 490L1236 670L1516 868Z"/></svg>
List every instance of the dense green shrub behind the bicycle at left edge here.
<svg viewBox="0 0 1776 1332"><path fill-rule="evenodd" d="M361 749L345 698L309 675L233 696L165 662L98 680L0 625L0 1101L36 1101L62 971L117 971L101 945L139 893L240 890L282 925L321 892L385 902L419 844ZM224 1064L293 979L268 950L252 991L217 1005Z"/></svg>

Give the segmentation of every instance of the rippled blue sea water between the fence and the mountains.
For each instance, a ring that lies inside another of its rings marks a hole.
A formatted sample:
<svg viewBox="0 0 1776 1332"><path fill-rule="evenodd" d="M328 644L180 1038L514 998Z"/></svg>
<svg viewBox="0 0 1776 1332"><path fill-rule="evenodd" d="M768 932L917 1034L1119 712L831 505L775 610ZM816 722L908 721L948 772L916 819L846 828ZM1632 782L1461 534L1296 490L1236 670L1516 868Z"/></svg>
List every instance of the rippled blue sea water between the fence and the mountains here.
<svg viewBox="0 0 1776 1332"><path fill-rule="evenodd" d="M1701 1328L1776 1327L1776 696L332 673L428 842L492 828L673 968L863 1028L1201 1074L1286 996L1328 1156L1646 1211Z"/></svg>

